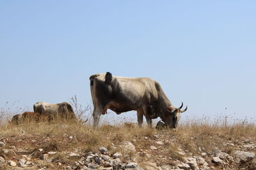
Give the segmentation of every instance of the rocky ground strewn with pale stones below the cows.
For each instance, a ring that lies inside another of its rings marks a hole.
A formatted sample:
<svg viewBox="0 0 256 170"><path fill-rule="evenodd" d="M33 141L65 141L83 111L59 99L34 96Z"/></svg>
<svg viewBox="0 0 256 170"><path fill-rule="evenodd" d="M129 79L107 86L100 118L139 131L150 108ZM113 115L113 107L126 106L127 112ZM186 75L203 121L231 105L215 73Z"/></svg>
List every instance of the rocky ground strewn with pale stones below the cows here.
<svg viewBox="0 0 256 170"><path fill-rule="evenodd" d="M99 136L83 141L86 137L79 137L75 133L59 132L58 136L51 136L26 132L24 128L16 130L13 135L2 133L0 167L1 169L256 169L255 136L237 137L234 134L225 136L225 132L182 134L184 132L182 128L180 131L179 129L157 131L147 127L145 131L139 130L141 132L135 133L138 127L133 125L109 129L111 131L106 130L104 134L100 134L104 135L101 138L109 141L106 145L104 141L97 142ZM90 134L97 134L97 131L90 129ZM128 135L125 133L129 131L133 133L126 138L125 136Z"/></svg>

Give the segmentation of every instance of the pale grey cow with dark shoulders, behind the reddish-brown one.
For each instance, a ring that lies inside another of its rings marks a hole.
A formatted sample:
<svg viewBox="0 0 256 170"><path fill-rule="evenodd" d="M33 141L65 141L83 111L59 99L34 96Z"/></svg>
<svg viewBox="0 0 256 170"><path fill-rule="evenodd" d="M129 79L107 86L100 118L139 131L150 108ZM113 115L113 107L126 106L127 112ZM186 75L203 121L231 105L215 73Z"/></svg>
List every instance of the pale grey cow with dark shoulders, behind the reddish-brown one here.
<svg viewBox="0 0 256 170"><path fill-rule="evenodd" d="M38 112L41 115L49 115L51 119L77 120L72 106L67 102L58 104L38 102L33 105L33 109L34 112Z"/></svg>

